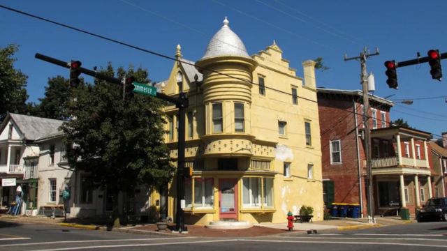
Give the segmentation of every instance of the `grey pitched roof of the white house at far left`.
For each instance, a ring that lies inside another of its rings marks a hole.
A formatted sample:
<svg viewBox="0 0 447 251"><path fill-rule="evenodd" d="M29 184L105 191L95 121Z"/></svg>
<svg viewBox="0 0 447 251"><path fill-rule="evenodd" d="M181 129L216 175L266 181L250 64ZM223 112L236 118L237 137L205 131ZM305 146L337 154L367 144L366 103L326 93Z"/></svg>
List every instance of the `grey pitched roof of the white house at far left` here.
<svg viewBox="0 0 447 251"><path fill-rule="evenodd" d="M36 140L46 135L59 133L59 127L64 123L57 119L45 119L36 116L29 116L23 114L8 113L10 119L15 123L20 132L24 135L26 140ZM7 118L3 121L1 129L7 124Z"/></svg>

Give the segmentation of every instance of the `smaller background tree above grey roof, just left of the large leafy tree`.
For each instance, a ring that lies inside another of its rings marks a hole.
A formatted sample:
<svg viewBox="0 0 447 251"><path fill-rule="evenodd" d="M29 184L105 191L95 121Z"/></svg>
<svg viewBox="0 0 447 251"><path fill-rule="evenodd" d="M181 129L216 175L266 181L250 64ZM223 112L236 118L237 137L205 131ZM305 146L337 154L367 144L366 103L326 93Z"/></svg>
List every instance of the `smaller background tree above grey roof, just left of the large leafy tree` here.
<svg viewBox="0 0 447 251"><path fill-rule="evenodd" d="M67 112L69 100L68 79L62 76L49 78L48 86L45 86L45 97L39 98L41 103L36 106L36 116L66 120L70 117L70 114Z"/></svg>

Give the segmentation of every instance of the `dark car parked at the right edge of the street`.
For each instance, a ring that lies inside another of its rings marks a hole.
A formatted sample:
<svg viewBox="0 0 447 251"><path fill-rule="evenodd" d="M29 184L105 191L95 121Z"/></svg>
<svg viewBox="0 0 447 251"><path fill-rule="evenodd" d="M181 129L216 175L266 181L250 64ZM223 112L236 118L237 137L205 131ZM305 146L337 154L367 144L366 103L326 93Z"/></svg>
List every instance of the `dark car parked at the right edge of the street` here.
<svg viewBox="0 0 447 251"><path fill-rule="evenodd" d="M425 202L423 208L416 211L416 220L446 220L447 221L447 197L432 198Z"/></svg>

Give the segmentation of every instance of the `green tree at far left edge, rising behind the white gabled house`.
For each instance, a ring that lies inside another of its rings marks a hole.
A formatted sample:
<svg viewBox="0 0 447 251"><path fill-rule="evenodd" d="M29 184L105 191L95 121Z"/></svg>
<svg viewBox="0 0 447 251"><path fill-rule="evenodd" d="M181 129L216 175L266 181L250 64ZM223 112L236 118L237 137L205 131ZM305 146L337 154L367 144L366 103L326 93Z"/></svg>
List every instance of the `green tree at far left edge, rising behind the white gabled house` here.
<svg viewBox="0 0 447 251"><path fill-rule="evenodd" d="M28 94L27 75L14 68L13 58L17 52L17 45L8 45L0 48L0 122L6 116L7 112L26 114L27 108L33 105L27 105Z"/></svg>

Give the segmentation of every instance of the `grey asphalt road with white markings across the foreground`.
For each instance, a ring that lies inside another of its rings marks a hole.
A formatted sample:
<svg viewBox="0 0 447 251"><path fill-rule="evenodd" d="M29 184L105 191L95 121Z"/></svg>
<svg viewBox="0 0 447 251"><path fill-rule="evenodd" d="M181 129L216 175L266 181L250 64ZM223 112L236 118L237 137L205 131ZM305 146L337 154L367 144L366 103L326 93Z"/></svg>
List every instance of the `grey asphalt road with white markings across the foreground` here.
<svg viewBox="0 0 447 251"><path fill-rule="evenodd" d="M256 238L155 236L0 222L0 250L447 250L447 222Z"/></svg>

